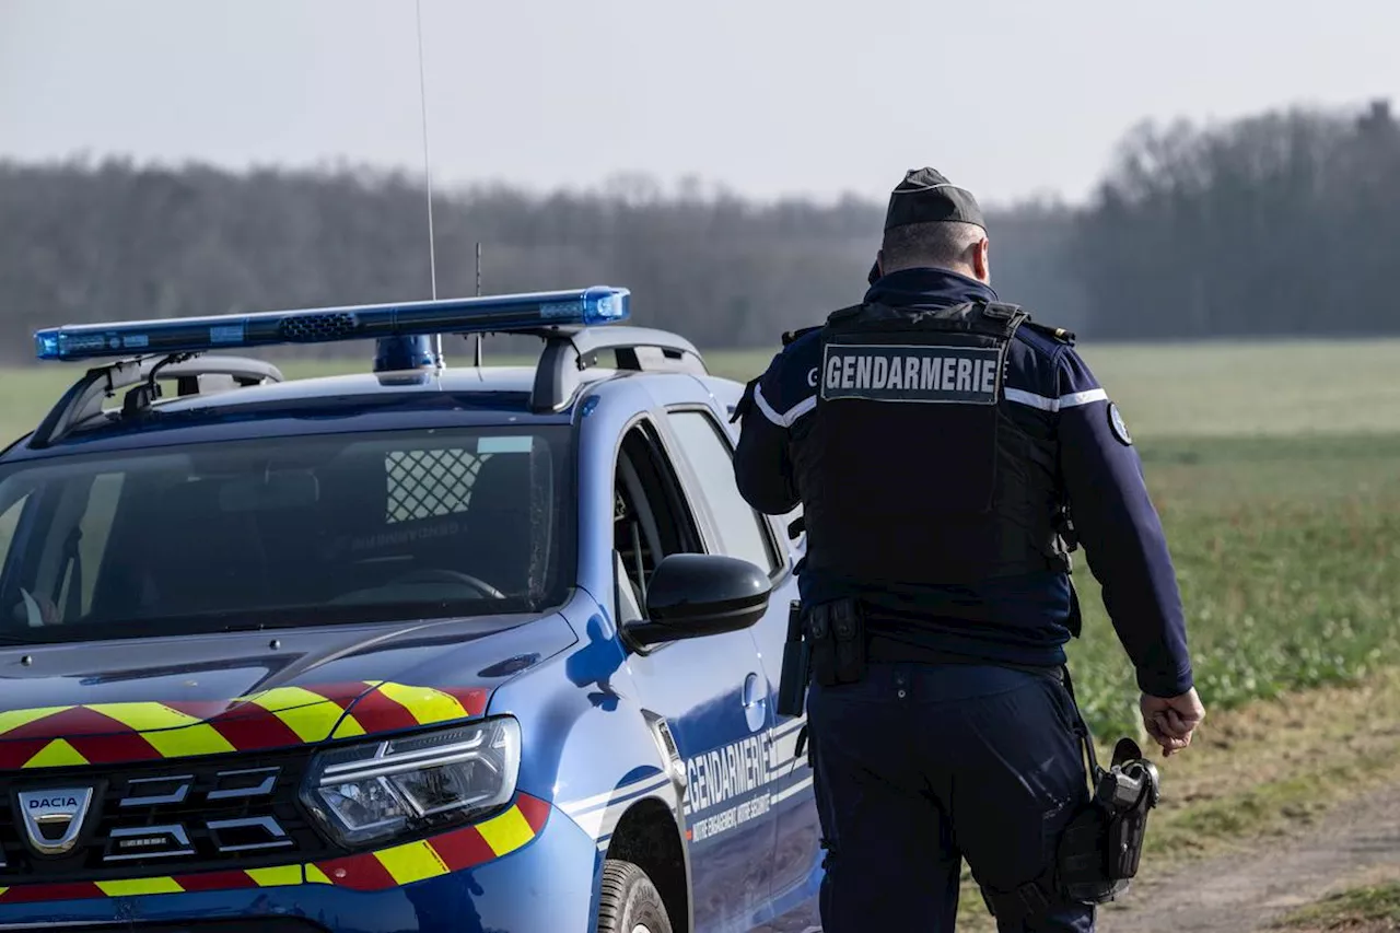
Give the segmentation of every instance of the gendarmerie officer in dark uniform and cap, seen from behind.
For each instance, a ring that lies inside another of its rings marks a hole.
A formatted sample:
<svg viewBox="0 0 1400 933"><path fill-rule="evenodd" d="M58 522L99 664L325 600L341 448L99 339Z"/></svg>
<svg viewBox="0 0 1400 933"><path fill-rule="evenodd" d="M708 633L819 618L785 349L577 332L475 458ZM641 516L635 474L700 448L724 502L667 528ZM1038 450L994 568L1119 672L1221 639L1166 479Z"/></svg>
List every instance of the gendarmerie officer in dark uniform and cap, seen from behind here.
<svg viewBox="0 0 1400 933"><path fill-rule="evenodd" d="M739 409L743 497L806 523L826 933L951 933L962 859L1002 932L1092 930L1044 883L1089 797L1060 677L1075 537L1148 733L1170 754L1204 716L1128 430L1072 335L988 283L976 199L910 171L865 300L790 335Z"/></svg>

